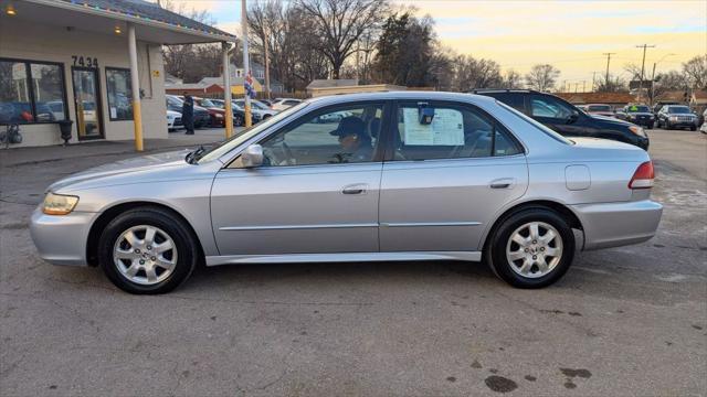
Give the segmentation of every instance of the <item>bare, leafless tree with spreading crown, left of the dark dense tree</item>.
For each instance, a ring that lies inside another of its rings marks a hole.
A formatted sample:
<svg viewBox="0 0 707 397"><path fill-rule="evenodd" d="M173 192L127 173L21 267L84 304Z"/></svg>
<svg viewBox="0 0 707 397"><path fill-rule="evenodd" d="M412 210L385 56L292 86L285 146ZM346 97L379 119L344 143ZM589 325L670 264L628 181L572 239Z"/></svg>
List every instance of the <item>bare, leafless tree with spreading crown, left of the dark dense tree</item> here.
<svg viewBox="0 0 707 397"><path fill-rule="evenodd" d="M312 25L308 34L318 39L315 46L329 62L331 77L339 78L344 62L356 52L356 43L386 20L388 1L297 0L296 7Z"/></svg>

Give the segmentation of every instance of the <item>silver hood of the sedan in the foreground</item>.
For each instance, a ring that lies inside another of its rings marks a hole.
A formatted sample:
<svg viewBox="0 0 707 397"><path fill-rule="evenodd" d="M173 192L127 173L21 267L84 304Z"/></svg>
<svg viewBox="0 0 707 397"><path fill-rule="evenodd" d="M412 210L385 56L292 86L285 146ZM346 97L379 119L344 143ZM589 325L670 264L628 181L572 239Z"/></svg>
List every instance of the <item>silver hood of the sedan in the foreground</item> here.
<svg viewBox="0 0 707 397"><path fill-rule="evenodd" d="M72 174L54 182L48 190L57 192L60 190L66 191L126 183L126 176L128 175L136 176L131 179L134 181L139 180L139 182L154 180L155 178L151 176L155 176L158 172L163 173L170 169L192 167L184 161L187 153L189 153L189 150L183 149L116 161Z"/></svg>

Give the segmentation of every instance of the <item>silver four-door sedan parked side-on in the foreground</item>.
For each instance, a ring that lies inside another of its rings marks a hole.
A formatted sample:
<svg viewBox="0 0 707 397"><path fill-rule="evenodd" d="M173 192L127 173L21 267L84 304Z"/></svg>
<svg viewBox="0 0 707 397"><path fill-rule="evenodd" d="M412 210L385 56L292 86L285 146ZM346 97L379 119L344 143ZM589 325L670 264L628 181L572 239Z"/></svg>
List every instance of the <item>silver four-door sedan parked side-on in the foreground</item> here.
<svg viewBox="0 0 707 397"><path fill-rule="evenodd" d="M334 112L347 116L319 122ZM538 288L576 249L650 239L653 179L640 148L568 140L490 97L356 94L63 179L31 233L45 260L99 265L134 293L167 292L201 261L484 260Z"/></svg>

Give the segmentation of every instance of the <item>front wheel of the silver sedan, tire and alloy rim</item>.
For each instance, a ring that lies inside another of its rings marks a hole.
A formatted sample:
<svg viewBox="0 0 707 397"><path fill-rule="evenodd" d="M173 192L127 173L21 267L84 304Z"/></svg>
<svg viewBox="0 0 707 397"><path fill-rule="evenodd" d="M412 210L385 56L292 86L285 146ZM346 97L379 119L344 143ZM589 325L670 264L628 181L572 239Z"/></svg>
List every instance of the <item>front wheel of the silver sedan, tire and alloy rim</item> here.
<svg viewBox="0 0 707 397"><path fill-rule="evenodd" d="M154 229L152 243L147 228ZM179 287L193 271L200 253L189 226L158 207L124 212L108 223L98 242L103 271L116 287L136 294L166 293Z"/></svg>

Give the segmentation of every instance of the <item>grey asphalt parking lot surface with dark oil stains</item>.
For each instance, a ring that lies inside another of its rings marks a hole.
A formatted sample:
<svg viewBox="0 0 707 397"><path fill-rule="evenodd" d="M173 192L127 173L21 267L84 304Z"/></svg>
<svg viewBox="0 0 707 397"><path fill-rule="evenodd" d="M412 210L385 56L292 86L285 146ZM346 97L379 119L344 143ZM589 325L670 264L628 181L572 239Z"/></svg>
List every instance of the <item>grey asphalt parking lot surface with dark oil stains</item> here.
<svg viewBox="0 0 707 397"><path fill-rule="evenodd" d="M0 151L0 394L704 395L707 136L648 135L656 237L580 253L542 290L440 261L204 268L130 296L43 262L28 221L52 181L135 153Z"/></svg>

